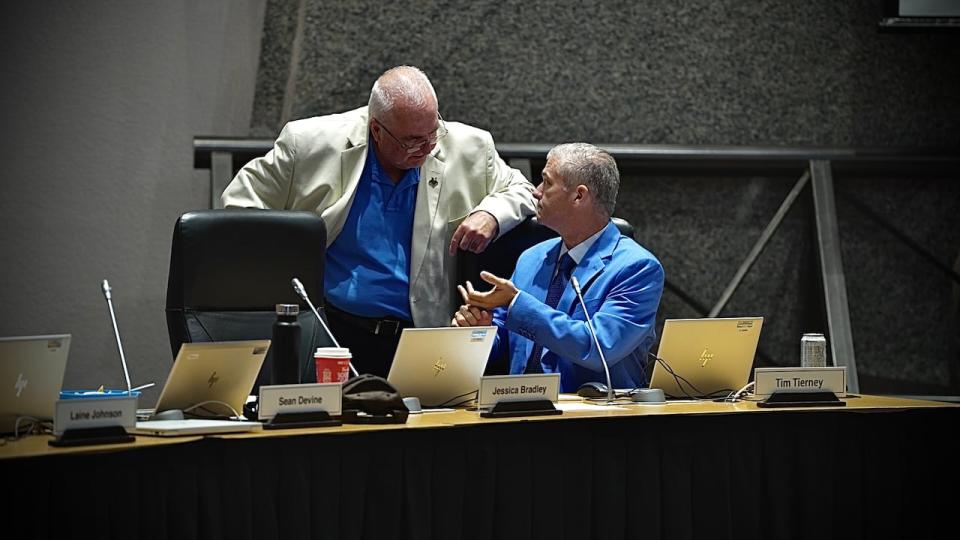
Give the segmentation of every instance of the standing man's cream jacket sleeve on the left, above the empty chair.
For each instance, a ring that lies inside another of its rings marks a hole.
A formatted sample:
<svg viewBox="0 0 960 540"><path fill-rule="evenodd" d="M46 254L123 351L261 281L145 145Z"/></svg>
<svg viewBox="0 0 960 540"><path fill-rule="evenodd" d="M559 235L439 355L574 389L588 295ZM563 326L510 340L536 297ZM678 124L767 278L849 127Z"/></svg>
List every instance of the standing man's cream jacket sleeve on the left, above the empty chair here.
<svg viewBox="0 0 960 540"><path fill-rule="evenodd" d="M220 196L225 208L261 208L284 210L290 205L290 192L296 164L296 141L289 125L267 155L243 166Z"/></svg>

